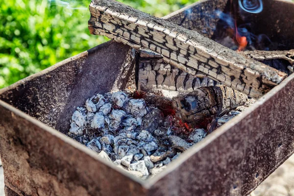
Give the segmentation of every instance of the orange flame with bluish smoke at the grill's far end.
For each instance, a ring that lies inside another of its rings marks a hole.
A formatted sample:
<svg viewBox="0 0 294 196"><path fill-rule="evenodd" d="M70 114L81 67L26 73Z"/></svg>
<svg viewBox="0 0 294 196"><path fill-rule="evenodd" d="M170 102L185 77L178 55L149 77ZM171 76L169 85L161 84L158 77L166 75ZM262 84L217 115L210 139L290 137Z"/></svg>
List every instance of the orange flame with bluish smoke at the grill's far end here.
<svg viewBox="0 0 294 196"><path fill-rule="evenodd" d="M247 16L262 11L262 0L239 0L238 7L232 3L230 11L216 10L214 17L219 23L212 39L233 50L276 50L278 44L266 34L254 33L252 17Z"/></svg>

